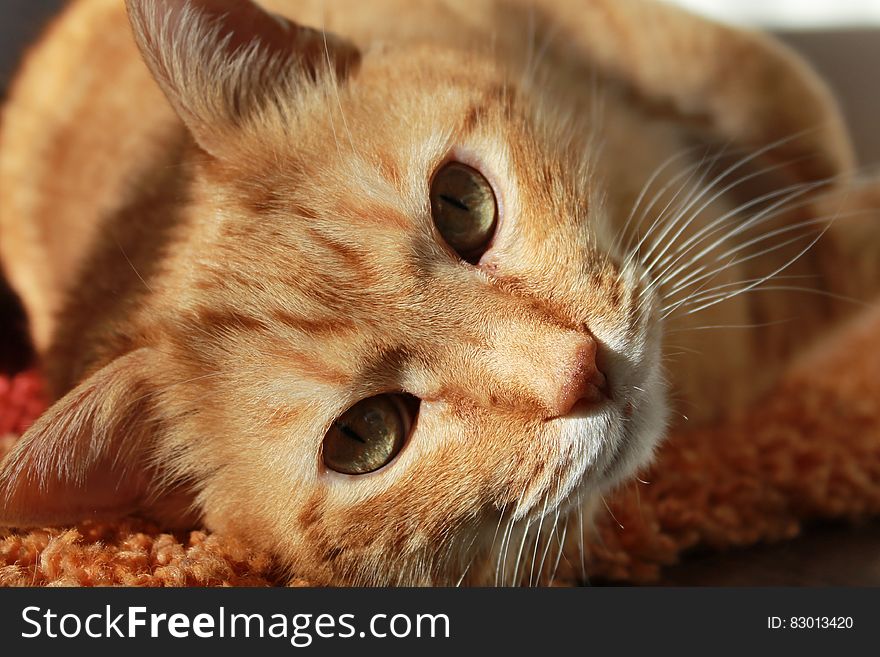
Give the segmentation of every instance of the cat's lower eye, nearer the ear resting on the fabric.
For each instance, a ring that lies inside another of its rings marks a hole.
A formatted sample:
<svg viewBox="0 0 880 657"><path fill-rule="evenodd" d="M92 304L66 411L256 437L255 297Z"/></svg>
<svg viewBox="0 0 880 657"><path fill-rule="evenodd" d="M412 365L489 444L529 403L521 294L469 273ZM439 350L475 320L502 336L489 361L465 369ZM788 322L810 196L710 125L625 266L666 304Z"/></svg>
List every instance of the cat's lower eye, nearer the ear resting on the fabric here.
<svg viewBox="0 0 880 657"><path fill-rule="evenodd" d="M390 462L409 436L414 398L385 394L359 401L339 416L324 437L324 465L359 475Z"/></svg>

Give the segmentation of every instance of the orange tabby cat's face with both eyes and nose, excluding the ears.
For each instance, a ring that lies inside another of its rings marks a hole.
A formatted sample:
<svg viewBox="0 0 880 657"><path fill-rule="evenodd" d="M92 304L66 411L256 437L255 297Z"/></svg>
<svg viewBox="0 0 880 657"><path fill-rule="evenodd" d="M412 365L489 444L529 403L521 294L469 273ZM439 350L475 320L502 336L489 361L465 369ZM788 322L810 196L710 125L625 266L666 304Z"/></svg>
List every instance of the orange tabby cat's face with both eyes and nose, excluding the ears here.
<svg viewBox="0 0 880 657"><path fill-rule="evenodd" d="M198 158L148 314L210 526L316 582L454 582L499 525L646 461L654 299L613 255L589 116L538 98L475 55L384 49ZM471 206L476 247L443 203Z"/></svg>

